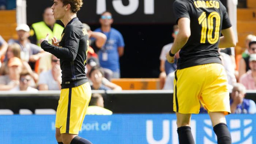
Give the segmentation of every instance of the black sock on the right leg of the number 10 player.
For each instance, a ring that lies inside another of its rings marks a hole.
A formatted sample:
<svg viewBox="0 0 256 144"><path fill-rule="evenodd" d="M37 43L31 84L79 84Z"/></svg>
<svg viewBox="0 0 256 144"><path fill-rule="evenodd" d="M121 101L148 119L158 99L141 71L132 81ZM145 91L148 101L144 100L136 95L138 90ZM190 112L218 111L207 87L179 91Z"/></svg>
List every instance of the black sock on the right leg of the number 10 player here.
<svg viewBox="0 0 256 144"><path fill-rule="evenodd" d="M231 135L225 123L219 123L213 127L217 135L218 144L231 144Z"/></svg>

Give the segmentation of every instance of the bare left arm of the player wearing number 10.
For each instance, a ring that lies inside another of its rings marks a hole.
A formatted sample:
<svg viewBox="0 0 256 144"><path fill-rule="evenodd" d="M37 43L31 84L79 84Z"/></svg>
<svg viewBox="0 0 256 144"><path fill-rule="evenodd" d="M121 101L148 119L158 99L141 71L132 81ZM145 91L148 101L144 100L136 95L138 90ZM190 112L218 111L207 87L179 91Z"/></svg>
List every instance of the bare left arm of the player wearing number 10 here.
<svg viewBox="0 0 256 144"><path fill-rule="evenodd" d="M180 18L178 20L179 33L174 39L172 48L169 53L166 55L166 59L168 62L174 62L174 55L171 57L170 54L177 53L188 41L191 31L190 31L190 19L189 18Z"/></svg>

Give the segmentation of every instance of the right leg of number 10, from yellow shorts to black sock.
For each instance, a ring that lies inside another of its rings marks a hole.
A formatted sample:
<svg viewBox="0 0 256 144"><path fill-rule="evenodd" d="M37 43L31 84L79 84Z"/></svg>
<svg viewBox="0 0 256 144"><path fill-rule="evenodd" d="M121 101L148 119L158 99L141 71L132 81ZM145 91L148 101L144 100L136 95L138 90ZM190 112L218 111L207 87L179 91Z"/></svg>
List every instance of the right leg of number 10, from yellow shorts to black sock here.
<svg viewBox="0 0 256 144"><path fill-rule="evenodd" d="M218 63L207 66L209 68L201 102L204 108L209 111L218 143L229 144L231 143L231 136L225 118L225 115L230 113L226 71Z"/></svg>

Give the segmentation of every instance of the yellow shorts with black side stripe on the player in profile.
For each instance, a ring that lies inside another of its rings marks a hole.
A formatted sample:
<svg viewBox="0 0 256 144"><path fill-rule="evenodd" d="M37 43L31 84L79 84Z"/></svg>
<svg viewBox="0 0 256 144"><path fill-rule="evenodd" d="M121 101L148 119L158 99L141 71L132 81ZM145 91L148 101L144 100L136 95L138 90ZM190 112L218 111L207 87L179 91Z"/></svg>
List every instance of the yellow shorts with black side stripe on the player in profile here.
<svg viewBox="0 0 256 144"><path fill-rule="evenodd" d="M55 121L55 127L60 129L60 133L78 134L91 95L92 90L88 82L77 87L61 89Z"/></svg>

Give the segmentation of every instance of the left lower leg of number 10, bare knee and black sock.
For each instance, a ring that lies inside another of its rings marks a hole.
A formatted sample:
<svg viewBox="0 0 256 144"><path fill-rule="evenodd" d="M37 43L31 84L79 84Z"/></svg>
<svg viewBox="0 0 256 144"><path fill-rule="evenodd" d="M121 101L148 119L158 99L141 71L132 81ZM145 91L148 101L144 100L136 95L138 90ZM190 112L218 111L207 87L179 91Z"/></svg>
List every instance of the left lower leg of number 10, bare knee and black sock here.
<svg viewBox="0 0 256 144"><path fill-rule="evenodd" d="M180 144L195 143L193 135L191 133L190 118L191 114L176 113L177 116L177 132L179 136Z"/></svg>

